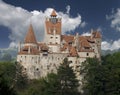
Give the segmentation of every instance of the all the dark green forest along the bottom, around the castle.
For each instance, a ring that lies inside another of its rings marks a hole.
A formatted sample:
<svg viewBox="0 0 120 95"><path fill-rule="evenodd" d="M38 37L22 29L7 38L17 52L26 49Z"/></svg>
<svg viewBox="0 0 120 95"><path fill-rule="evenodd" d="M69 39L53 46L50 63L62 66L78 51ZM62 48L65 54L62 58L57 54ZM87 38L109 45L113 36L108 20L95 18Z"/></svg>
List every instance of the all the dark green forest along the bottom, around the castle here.
<svg viewBox="0 0 120 95"><path fill-rule="evenodd" d="M83 76L80 93L78 80L69 61L64 59L57 74L30 80L17 62L0 62L0 95L120 95L120 52L88 58L81 63Z"/></svg>

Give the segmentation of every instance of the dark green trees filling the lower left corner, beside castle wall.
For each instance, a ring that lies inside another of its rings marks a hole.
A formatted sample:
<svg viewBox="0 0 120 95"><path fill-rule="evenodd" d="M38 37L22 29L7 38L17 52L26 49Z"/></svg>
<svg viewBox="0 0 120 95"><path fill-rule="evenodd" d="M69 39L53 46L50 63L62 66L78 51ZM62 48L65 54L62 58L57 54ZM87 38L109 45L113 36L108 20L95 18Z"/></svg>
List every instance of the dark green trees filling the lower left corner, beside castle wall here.
<svg viewBox="0 0 120 95"><path fill-rule="evenodd" d="M22 73L22 67L19 64L0 62L0 93L6 93L2 95L14 95L10 91L19 93L26 87L27 81L27 76Z"/></svg>

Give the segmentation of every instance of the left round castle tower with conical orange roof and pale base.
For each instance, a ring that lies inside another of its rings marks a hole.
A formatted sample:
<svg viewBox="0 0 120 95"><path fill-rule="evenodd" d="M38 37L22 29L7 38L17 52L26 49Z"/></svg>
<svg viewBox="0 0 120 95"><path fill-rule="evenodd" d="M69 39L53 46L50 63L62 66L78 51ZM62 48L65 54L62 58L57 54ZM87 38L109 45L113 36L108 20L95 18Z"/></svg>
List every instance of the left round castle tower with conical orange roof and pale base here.
<svg viewBox="0 0 120 95"><path fill-rule="evenodd" d="M23 71L26 72L30 79L40 76L37 74L39 73L39 66L36 65L39 63L39 53L33 27L30 24L24 39L23 47L17 55L17 62L24 67Z"/></svg>

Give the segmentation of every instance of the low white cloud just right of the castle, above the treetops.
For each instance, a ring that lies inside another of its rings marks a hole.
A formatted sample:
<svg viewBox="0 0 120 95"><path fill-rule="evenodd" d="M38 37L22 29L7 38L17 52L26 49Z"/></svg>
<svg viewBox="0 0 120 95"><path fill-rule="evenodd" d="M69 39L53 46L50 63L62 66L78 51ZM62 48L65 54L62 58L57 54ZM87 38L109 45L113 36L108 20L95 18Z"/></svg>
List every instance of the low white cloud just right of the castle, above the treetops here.
<svg viewBox="0 0 120 95"><path fill-rule="evenodd" d="M116 50L120 48L120 39L113 41L113 42L102 42L102 50Z"/></svg>

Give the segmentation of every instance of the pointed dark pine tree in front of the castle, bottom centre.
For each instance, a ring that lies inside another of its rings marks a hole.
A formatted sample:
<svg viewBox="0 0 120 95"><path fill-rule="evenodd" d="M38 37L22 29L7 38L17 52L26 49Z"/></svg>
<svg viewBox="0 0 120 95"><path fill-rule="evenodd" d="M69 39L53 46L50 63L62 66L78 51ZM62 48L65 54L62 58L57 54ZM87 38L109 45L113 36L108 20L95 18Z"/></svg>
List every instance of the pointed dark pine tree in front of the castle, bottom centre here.
<svg viewBox="0 0 120 95"><path fill-rule="evenodd" d="M60 95L79 95L78 92L78 80L76 79L75 73L72 67L69 66L70 62L67 58L64 59L63 63L58 68L58 80L60 84L59 94Z"/></svg>

